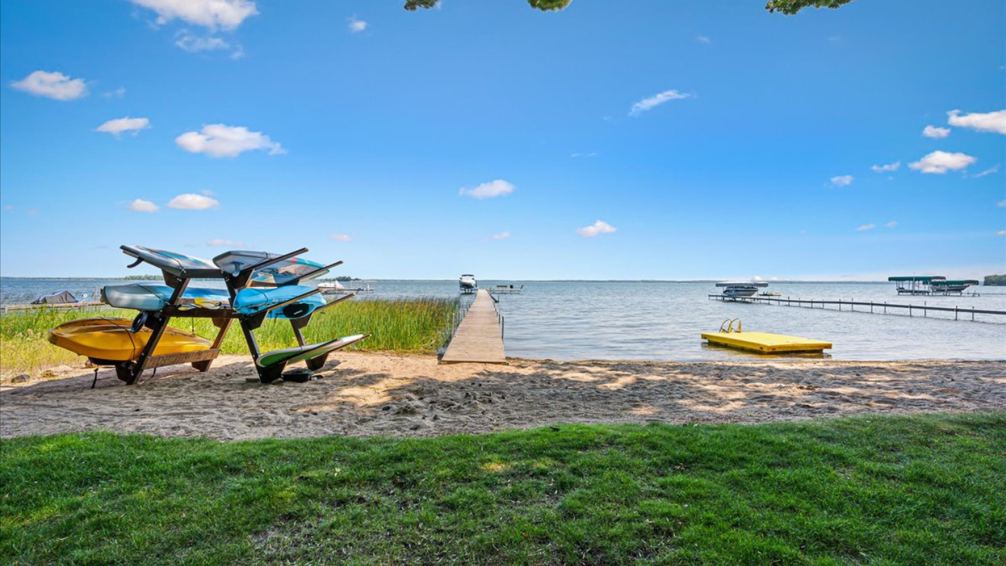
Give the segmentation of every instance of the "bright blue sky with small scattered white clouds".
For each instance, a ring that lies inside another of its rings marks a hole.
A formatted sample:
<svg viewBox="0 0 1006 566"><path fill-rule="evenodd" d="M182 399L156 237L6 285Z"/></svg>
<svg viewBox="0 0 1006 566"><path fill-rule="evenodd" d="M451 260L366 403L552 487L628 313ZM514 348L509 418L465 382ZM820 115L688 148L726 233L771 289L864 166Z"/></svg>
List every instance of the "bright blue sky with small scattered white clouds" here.
<svg viewBox="0 0 1006 566"><path fill-rule="evenodd" d="M1006 272L1006 3L764 4L5 0L0 272Z"/></svg>

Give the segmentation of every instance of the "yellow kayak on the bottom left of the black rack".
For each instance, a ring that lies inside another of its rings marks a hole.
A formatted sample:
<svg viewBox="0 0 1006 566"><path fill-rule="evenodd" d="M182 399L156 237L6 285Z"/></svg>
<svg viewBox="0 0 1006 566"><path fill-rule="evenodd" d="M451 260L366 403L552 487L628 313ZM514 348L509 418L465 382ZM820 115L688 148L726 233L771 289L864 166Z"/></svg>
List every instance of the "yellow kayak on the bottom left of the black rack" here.
<svg viewBox="0 0 1006 566"><path fill-rule="evenodd" d="M151 335L150 328L146 327L131 332L132 324L128 318L81 318L49 330L49 341L93 360L129 362L140 357ZM201 351L209 349L210 345L205 338L168 326L154 356Z"/></svg>

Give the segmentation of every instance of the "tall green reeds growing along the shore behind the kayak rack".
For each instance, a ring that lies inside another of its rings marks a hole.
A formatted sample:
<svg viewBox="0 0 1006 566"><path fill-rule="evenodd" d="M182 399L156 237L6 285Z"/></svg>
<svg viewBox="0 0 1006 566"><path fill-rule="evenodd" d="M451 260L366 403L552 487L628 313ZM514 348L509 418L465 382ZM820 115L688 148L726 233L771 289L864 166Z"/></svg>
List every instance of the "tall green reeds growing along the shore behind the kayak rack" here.
<svg viewBox="0 0 1006 566"><path fill-rule="evenodd" d="M304 329L308 341L323 341L355 333L373 334L360 347L369 350L435 352L447 339L457 303L450 299L351 299L325 309ZM94 316L133 318L136 311L104 309L35 309L0 316L0 369L4 376L36 375L58 365L82 365L83 359L48 342L49 328ZM208 319L176 318L172 325L212 339L216 328ZM267 320L256 331L263 350L297 345L287 320ZM247 353L240 328L234 324L223 342L224 353Z"/></svg>

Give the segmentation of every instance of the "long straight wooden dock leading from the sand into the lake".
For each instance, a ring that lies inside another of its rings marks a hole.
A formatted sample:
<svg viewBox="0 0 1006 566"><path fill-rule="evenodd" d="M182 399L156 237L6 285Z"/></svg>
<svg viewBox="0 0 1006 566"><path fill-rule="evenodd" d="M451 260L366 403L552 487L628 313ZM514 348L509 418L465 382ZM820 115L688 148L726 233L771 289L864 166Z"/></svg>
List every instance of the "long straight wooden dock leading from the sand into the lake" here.
<svg viewBox="0 0 1006 566"><path fill-rule="evenodd" d="M479 289L441 358L442 364L466 362L506 364L502 320L496 311L496 302L485 289Z"/></svg>

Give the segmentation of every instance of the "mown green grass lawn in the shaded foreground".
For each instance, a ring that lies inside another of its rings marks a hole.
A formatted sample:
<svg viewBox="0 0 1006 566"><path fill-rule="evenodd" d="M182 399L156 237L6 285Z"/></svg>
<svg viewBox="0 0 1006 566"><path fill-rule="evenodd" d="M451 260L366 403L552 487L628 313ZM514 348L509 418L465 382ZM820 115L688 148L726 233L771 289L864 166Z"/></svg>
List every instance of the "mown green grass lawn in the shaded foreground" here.
<svg viewBox="0 0 1006 566"><path fill-rule="evenodd" d="M4 564L997 564L1006 412L3 441Z"/></svg>

